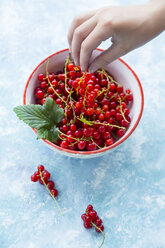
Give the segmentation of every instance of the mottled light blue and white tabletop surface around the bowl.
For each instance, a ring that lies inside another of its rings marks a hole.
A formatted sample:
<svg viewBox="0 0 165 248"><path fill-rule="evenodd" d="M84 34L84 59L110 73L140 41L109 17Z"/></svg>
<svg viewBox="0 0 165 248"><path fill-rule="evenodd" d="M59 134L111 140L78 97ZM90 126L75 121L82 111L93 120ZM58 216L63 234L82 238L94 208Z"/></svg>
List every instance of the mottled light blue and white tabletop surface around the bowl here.
<svg viewBox="0 0 165 248"><path fill-rule="evenodd" d="M165 247L164 34L124 57L142 82L145 106L135 132L112 154L92 160L61 156L37 141L12 111L22 103L35 66L68 47L76 13L134 3L0 0L0 248L98 247L102 236L85 230L80 219L89 203L104 222L103 247ZM52 173L65 217L46 190L30 181L40 163Z"/></svg>

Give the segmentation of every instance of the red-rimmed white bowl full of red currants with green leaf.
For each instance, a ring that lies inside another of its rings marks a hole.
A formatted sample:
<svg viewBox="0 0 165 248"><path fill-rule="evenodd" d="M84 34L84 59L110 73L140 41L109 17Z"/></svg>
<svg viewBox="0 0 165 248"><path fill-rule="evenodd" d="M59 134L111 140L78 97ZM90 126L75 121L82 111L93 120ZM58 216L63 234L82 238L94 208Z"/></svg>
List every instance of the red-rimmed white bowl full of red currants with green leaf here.
<svg viewBox="0 0 165 248"><path fill-rule="evenodd" d="M122 59L94 73L82 72L65 49L34 69L23 105L14 111L49 148L91 158L114 150L132 134L143 105L141 83Z"/></svg>

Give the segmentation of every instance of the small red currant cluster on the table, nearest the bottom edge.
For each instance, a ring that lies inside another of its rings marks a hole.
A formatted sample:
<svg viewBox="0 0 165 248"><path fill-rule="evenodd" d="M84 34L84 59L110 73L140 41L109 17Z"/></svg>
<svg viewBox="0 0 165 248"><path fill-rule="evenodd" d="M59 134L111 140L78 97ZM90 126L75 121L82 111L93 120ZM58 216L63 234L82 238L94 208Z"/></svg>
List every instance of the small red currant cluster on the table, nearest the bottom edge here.
<svg viewBox="0 0 165 248"><path fill-rule="evenodd" d="M104 226L102 225L102 220L98 217L97 212L93 209L92 205L88 205L85 214L81 215L84 221L84 227L89 229L95 226L96 232L103 232Z"/></svg>

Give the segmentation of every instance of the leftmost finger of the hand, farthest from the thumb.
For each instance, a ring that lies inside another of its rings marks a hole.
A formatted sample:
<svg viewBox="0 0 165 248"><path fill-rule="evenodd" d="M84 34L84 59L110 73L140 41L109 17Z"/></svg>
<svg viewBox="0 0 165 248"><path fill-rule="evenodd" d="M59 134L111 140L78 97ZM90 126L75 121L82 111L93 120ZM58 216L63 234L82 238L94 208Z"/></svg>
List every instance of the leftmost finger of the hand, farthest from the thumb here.
<svg viewBox="0 0 165 248"><path fill-rule="evenodd" d="M71 48L71 44L72 44L72 38L73 38L73 34L75 29L80 26L83 22L85 22L86 20L88 20L89 18L91 18L94 14L95 14L96 10L92 10L88 13L85 14L79 14L77 17L75 17L70 25L69 31L68 31L68 42L69 42L69 46Z"/></svg>

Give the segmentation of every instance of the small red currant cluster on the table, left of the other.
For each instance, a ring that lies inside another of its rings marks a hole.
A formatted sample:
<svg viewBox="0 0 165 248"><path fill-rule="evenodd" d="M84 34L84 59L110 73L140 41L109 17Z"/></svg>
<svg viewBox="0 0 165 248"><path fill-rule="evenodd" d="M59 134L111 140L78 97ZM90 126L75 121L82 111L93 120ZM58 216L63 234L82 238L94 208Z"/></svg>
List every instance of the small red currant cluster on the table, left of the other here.
<svg viewBox="0 0 165 248"><path fill-rule="evenodd" d="M45 170L44 166L39 165L38 170L31 176L31 181L37 182L39 180L40 184L44 184L46 186L51 196L56 197L58 195L58 190L54 188L54 182L49 180L50 176L51 174Z"/></svg>

